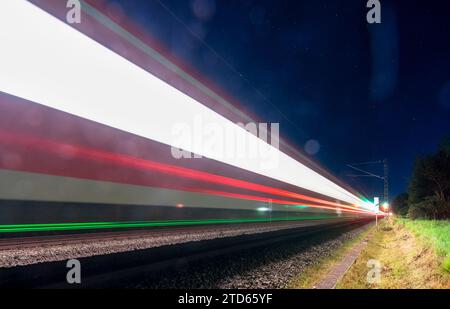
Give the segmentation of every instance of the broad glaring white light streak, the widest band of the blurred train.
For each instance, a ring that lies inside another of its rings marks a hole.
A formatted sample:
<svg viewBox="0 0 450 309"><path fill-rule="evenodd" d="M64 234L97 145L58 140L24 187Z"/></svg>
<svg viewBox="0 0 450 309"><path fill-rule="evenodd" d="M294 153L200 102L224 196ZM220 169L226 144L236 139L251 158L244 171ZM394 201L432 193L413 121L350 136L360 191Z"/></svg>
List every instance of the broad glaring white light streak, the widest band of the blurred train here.
<svg viewBox="0 0 450 309"><path fill-rule="evenodd" d="M268 145L240 126L178 91L26 1L0 2L0 91L56 108L166 145L180 147L171 130L201 116L235 136ZM7 31L5 31L7 29ZM269 146L272 147L272 146ZM352 205L367 203L277 149L279 166L261 160L218 158L185 149Z"/></svg>

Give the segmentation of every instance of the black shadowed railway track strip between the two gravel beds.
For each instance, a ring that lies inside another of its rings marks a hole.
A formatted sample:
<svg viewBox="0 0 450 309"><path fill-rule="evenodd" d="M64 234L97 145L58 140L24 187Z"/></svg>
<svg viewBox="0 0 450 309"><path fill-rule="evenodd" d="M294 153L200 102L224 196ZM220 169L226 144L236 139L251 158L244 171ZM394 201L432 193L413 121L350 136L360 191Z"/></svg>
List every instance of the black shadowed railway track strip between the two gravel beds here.
<svg viewBox="0 0 450 309"><path fill-rule="evenodd" d="M302 227L285 228L277 231L193 241L175 245L121 252L101 256L80 258L82 284L69 285L66 282L66 261L55 261L33 265L0 269L0 287L56 287L92 288L121 287L141 280L145 276L173 269L182 261L194 263L223 255L259 250L277 243L305 239L318 233L329 233L350 226L361 226L365 220L351 222L327 222ZM181 229L182 230L182 229ZM181 230L178 230L179 233Z"/></svg>

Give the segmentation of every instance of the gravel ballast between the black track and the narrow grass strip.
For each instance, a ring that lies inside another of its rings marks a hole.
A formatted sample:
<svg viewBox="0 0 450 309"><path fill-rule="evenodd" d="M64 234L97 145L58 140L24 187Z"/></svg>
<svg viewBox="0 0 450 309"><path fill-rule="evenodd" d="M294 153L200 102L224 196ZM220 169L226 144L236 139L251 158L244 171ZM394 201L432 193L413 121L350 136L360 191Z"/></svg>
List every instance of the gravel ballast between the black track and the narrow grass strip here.
<svg viewBox="0 0 450 309"><path fill-rule="evenodd" d="M308 266L329 256L347 241L355 239L371 224L324 232L307 240L283 243L265 249L249 250L213 261L179 265L147 277L130 288L285 288Z"/></svg>

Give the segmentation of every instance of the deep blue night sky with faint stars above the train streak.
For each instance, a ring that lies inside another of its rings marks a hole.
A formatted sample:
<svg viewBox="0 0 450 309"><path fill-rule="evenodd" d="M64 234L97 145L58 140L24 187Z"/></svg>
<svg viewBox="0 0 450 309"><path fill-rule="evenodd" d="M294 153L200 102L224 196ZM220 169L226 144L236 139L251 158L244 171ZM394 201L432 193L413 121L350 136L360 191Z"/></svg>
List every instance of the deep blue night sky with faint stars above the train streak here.
<svg viewBox="0 0 450 309"><path fill-rule="evenodd" d="M450 1L381 1L373 25L365 0L110 2L369 197L347 163L387 158L395 196L450 136Z"/></svg>

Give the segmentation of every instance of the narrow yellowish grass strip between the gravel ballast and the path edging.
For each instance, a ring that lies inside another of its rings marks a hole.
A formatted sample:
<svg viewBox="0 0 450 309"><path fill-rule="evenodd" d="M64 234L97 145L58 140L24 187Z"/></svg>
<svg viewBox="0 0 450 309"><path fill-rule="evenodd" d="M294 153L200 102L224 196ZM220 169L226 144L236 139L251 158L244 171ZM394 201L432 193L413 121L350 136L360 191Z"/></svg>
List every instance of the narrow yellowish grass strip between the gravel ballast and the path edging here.
<svg viewBox="0 0 450 309"><path fill-rule="evenodd" d="M367 230L359 234L354 239L347 241L339 250L334 251L331 255L318 260L313 265L306 268L298 277L295 277L287 286L288 289L311 289L317 284L330 270L339 262L352 247L362 241L375 226L369 227Z"/></svg>

